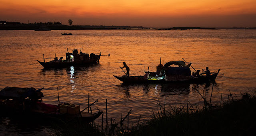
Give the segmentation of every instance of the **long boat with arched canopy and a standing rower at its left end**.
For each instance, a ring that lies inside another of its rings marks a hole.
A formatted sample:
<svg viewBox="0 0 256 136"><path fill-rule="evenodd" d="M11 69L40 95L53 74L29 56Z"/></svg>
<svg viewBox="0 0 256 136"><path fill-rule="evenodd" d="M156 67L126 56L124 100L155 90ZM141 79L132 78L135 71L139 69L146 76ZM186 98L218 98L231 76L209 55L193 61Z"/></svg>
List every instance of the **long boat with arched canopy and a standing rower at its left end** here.
<svg viewBox="0 0 256 136"><path fill-rule="evenodd" d="M149 76L116 76L118 80L124 83L205 83L208 81L214 81L220 72L211 72L210 75L206 73L200 73L197 70L196 73L192 73L190 65L186 65L184 61L170 61L165 65L158 65L156 72L151 72ZM193 68L194 69L194 68ZM147 74L147 72L145 72Z"/></svg>

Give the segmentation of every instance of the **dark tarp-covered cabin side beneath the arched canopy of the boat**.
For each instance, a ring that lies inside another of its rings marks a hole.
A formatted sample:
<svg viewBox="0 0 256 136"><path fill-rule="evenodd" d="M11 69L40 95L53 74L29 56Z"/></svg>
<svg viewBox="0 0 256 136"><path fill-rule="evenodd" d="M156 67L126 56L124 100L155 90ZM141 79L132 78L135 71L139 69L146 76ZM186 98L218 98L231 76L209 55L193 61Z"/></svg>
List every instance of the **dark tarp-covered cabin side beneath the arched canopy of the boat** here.
<svg viewBox="0 0 256 136"><path fill-rule="evenodd" d="M172 76L172 75L190 76L191 71L189 67L170 67L168 69L165 69L165 74L167 76Z"/></svg>

